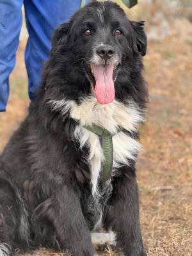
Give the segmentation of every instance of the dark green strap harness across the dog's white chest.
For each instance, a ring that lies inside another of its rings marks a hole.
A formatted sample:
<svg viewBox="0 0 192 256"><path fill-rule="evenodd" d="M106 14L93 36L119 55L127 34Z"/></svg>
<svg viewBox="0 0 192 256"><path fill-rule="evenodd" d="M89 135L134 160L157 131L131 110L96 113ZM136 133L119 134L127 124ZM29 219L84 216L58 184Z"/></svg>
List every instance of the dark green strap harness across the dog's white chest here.
<svg viewBox="0 0 192 256"><path fill-rule="evenodd" d="M102 171L100 172L100 184L104 184L106 181L111 180L113 170L113 141L112 138L115 134L122 131L122 128L118 129L115 134L112 134L108 130L97 126L95 124L85 126L88 131L91 131L100 136L102 151L104 154L104 163L102 164Z"/></svg>

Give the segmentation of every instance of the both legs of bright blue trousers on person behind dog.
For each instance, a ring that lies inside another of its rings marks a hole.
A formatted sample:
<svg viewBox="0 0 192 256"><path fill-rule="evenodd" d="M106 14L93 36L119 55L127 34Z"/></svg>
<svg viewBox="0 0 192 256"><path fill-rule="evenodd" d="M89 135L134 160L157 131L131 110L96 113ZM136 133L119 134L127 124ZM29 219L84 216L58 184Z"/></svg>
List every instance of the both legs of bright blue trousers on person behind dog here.
<svg viewBox="0 0 192 256"><path fill-rule="evenodd" d="M33 100L40 84L42 64L49 58L52 31L68 21L81 7L81 0L0 0L0 111L5 111L8 102L9 76L15 66L22 26L22 4L29 33L25 51L28 91Z"/></svg>

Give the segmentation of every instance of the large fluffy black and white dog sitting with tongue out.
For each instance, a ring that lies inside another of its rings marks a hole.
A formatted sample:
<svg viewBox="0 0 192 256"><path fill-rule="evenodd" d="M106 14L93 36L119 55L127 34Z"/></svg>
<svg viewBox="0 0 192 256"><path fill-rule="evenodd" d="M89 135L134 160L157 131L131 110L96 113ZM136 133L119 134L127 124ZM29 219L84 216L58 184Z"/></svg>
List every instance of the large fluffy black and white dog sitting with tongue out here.
<svg viewBox="0 0 192 256"><path fill-rule="evenodd" d="M90 230L113 230L127 256L145 256L135 161L147 87L147 39L115 3L93 2L56 29L29 115L0 163L0 255L46 246L97 255ZM113 134L112 177L97 125Z"/></svg>

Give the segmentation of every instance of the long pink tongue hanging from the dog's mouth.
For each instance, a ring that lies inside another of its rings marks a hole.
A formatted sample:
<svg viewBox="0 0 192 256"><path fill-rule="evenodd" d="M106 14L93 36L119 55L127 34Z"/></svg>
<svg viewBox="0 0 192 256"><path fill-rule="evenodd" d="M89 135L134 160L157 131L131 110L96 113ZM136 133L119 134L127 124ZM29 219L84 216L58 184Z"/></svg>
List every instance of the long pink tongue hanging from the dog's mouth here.
<svg viewBox="0 0 192 256"><path fill-rule="evenodd" d="M100 104L111 103L115 99L113 65L92 65L95 77L95 97Z"/></svg>

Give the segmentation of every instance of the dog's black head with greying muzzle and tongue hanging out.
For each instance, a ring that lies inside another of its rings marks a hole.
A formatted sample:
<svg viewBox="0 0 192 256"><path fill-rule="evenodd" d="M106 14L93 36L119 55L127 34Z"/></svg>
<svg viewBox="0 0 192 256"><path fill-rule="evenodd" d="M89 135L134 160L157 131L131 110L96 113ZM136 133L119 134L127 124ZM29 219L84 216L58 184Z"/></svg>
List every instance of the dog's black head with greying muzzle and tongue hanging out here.
<svg viewBox="0 0 192 256"><path fill-rule="evenodd" d="M79 85L79 95L94 93L100 104L108 104L118 93L116 83L120 72L122 76L128 72L133 77L131 72L136 74L138 67L141 70L141 56L147 49L143 25L127 19L122 8L111 1L90 3L76 12L70 22L56 29L52 57L60 58L63 72L67 65L76 73L81 70L81 75L89 81L89 86Z"/></svg>

